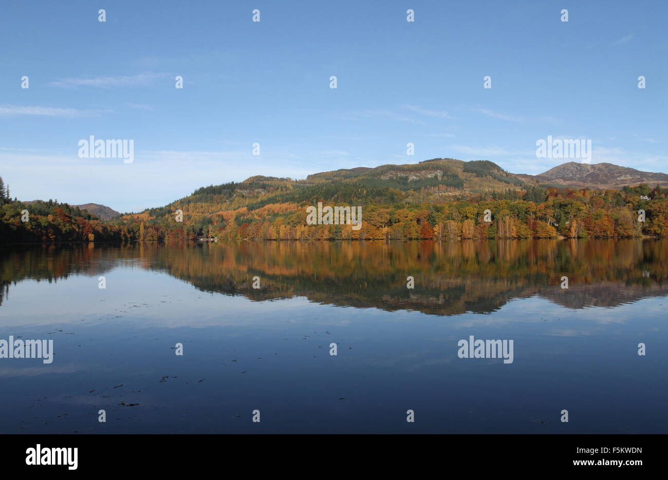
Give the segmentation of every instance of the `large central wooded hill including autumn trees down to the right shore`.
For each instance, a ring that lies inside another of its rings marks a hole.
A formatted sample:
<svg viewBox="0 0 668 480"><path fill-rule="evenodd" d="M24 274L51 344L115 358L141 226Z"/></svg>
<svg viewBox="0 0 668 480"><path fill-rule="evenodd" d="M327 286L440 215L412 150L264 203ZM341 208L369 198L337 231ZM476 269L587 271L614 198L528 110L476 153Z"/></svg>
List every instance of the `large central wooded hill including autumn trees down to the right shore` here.
<svg viewBox="0 0 668 480"><path fill-rule="evenodd" d="M646 184L622 190L541 184L492 162L435 158L321 172L304 180L253 176L198 188L114 222L142 240L662 236L668 232L666 192ZM307 225L305 209L318 202L363 206L361 230ZM647 212L647 222L637 222L639 209ZM483 221L485 210L492 222Z"/></svg>

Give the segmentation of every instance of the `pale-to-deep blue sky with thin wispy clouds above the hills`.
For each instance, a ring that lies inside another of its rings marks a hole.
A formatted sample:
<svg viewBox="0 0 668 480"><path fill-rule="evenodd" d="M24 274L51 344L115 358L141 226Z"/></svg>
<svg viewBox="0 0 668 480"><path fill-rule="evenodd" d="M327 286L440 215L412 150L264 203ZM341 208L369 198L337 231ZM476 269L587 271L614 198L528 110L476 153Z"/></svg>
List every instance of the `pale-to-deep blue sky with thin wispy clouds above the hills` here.
<svg viewBox="0 0 668 480"><path fill-rule="evenodd" d="M435 157L537 174L568 161L536 158L548 135L668 172L667 18L663 0L4 0L0 176L21 200L125 212ZM134 162L79 158L90 136L134 140Z"/></svg>

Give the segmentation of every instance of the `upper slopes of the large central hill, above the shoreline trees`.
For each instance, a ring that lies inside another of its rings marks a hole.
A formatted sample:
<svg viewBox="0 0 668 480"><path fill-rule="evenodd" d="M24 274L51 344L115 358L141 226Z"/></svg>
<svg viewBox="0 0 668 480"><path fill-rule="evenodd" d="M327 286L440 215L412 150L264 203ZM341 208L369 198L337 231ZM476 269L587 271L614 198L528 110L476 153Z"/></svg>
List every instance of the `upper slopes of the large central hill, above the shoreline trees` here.
<svg viewBox="0 0 668 480"><path fill-rule="evenodd" d="M176 205L224 202L232 210L256 210L270 204L346 202L347 204L424 202L464 198L471 194L521 190L525 185L500 166L478 160L462 162L435 158L419 164L353 168L309 175L305 180L253 176L236 183L198 188L191 195L143 213L151 217L171 212Z"/></svg>

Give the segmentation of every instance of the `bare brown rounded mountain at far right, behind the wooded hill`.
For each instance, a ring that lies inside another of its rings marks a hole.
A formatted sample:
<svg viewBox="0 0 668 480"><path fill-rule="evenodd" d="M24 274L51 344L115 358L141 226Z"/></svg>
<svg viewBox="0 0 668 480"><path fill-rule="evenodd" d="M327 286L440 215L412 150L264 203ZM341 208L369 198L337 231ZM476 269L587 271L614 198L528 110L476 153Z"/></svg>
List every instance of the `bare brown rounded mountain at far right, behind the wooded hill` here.
<svg viewBox="0 0 668 480"><path fill-rule="evenodd" d="M517 175L528 183L558 184L577 188L613 188L649 184L649 186L668 186L668 175L653 172L641 172L635 168L621 167L614 164L578 164L568 162L550 168L539 175Z"/></svg>

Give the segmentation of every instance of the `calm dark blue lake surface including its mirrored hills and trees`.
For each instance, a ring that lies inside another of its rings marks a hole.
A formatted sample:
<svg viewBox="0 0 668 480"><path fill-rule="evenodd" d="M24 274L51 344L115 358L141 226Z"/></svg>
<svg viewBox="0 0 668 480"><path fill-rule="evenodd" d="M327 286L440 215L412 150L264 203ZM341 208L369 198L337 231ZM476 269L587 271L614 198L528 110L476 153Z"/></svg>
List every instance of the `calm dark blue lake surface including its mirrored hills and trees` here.
<svg viewBox="0 0 668 480"><path fill-rule="evenodd" d="M0 280L0 339L55 353L0 358L0 433L668 432L668 242L5 248Z"/></svg>

